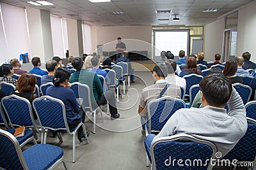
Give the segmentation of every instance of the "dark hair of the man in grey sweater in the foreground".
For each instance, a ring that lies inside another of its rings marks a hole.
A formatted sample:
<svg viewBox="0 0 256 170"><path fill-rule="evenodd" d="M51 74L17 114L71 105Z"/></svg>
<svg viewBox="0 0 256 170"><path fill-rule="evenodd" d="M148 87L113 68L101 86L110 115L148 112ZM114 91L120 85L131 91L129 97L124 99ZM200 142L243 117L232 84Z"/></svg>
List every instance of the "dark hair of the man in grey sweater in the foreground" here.
<svg viewBox="0 0 256 170"><path fill-rule="evenodd" d="M210 106L223 107L231 97L232 83L224 75L205 76L199 83L200 91Z"/></svg>

